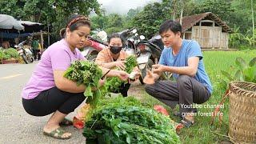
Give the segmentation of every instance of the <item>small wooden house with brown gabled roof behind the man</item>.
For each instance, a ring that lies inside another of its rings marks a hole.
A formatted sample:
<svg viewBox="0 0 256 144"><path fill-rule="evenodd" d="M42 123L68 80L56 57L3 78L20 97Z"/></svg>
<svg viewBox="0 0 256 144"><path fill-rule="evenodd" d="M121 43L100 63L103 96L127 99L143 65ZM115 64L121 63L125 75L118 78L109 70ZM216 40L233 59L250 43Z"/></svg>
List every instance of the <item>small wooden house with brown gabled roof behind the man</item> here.
<svg viewBox="0 0 256 144"><path fill-rule="evenodd" d="M182 38L196 40L202 49L228 49L230 32L230 27L210 12L182 18Z"/></svg>

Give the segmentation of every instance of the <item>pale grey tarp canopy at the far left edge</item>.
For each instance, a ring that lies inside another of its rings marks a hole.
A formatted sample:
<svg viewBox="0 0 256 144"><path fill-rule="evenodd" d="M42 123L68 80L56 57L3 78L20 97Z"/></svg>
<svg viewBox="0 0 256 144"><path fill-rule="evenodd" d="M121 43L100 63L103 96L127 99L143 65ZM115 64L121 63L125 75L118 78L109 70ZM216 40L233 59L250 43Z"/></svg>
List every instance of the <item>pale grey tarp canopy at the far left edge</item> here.
<svg viewBox="0 0 256 144"><path fill-rule="evenodd" d="M24 26L10 15L0 14L0 29L23 30Z"/></svg>

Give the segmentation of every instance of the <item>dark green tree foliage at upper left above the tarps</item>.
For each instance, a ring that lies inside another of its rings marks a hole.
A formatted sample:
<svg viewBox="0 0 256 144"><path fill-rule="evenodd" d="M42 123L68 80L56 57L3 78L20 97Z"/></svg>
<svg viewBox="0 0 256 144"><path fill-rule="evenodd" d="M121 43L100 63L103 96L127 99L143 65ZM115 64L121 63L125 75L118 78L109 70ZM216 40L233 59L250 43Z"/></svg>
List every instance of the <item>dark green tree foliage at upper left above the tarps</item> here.
<svg viewBox="0 0 256 144"><path fill-rule="evenodd" d="M0 6L0 14L41 22L45 26L50 24L55 35L71 14L89 15L93 10L96 14L101 13L97 0L6 0L0 1Z"/></svg>

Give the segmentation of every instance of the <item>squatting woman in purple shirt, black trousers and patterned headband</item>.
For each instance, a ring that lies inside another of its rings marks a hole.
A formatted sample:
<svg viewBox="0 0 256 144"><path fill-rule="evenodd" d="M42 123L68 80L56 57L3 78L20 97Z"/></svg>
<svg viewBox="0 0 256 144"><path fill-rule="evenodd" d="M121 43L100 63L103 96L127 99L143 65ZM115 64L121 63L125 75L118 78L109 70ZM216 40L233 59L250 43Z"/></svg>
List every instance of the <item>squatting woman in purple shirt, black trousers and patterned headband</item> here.
<svg viewBox="0 0 256 144"><path fill-rule="evenodd" d="M65 118L73 112L85 99L84 85L77 86L63 77L70 62L85 59L79 47L83 47L90 34L90 20L81 15L74 15L66 25L66 36L55 42L42 54L29 82L22 90L22 104L28 114L45 116L52 114L43 132L54 138L70 138L71 134L64 131L60 125L71 124ZM102 68L107 77L128 78L121 70ZM103 81L100 82L101 85ZM67 123L66 123L67 122Z"/></svg>

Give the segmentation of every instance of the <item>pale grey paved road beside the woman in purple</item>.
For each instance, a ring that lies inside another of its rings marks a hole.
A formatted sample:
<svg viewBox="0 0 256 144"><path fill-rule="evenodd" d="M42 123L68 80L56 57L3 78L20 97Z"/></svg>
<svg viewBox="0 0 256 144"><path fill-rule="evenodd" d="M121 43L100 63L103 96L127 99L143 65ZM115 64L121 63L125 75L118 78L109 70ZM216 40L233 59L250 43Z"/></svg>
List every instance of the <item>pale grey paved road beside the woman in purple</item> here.
<svg viewBox="0 0 256 144"><path fill-rule="evenodd" d="M26 114L20 93L34 66L32 64L0 65L0 143L86 143L82 130L66 127L73 136L69 140L58 140L42 134L42 127L49 116L34 117ZM70 114L68 118L73 118Z"/></svg>

